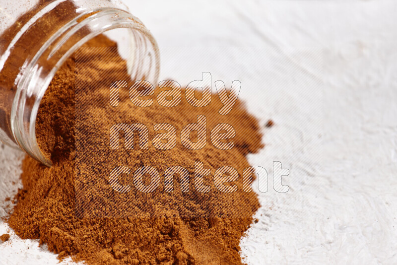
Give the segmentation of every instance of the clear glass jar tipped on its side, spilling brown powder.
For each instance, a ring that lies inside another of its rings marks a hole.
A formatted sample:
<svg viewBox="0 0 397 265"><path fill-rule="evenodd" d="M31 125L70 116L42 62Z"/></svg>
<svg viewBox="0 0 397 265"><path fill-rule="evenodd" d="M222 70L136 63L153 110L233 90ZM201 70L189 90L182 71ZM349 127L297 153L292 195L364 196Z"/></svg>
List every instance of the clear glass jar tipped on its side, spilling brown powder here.
<svg viewBox="0 0 397 265"><path fill-rule="evenodd" d="M55 72L104 33L128 48L129 74L157 81L156 41L119 0L0 0L0 139L50 166L36 141L40 101Z"/></svg>

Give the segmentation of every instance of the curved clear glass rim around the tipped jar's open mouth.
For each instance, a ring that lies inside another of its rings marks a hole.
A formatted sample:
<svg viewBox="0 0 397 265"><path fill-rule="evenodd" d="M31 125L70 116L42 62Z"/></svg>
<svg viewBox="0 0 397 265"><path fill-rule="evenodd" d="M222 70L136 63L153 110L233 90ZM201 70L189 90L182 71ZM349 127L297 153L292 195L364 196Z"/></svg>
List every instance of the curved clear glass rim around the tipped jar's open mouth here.
<svg viewBox="0 0 397 265"><path fill-rule="evenodd" d="M43 76L43 68L40 66L39 61L43 60L44 56L54 56L55 53L59 52L65 46L67 40L81 33L79 30L83 27L89 27L91 31L82 38L78 37L79 40L67 48L66 52L62 53L62 56L57 60L50 72ZM36 160L47 166L52 165L52 161L45 157L39 148L35 128L40 101L56 71L88 40L99 34L118 28L131 29L143 35L151 45L152 53L149 53L151 56L149 59L154 60L154 64L151 64L151 69L148 69L150 73L146 74L146 76L151 76L151 80L153 81L158 80L160 57L157 43L150 31L131 13L118 8L105 7L79 14L73 20L66 22L63 27L46 41L40 51L36 53L34 59L28 65L24 66L24 74L20 76L11 107L10 125L14 139L26 153ZM59 40L60 37L61 40ZM57 45L54 46L54 42L57 42ZM49 52L49 49L52 49L51 52ZM32 96L34 97L33 105L27 100Z"/></svg>

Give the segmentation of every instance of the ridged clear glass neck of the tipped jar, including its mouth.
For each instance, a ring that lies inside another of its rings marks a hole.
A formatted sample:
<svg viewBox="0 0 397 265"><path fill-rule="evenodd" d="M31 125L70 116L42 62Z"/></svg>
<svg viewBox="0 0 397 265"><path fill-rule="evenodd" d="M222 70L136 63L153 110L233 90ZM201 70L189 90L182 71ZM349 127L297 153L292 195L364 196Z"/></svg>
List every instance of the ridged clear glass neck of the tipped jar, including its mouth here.
<svg viewBox="0 0 397 265"><path fill-rule="evenodd" d="M135 80L145 78L157 81L158 47L153 36L137 18L127 11L111 7L76 14L40 45L31 60L25 61L16 80L10 127L16 143L30 156L51 166L51 161L40 151L35 128L40 101L56 71L85 42L118 28L128 29L131 33L127 38L132 49L127 61L133 60L128 62L129 74Z"/></svg>

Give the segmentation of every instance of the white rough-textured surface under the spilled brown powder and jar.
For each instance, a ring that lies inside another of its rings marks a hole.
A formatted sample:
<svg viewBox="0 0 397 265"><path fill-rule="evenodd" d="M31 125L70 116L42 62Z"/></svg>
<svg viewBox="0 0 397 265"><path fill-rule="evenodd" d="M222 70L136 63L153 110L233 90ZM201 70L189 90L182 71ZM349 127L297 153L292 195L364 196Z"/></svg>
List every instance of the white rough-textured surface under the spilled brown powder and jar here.
<svg viewBox="0 0 397 265"><path fill-rule="evenodd" d="M198 77L197 70L207 70L199 67L207 66L208 58L213 61L208 70L214 78L222 76L225 67L232 69L228 74L237 74L235 68L217 64L216 59L224 60L231 51L225 49L216 57L214 51L220 46L261 47L267 51L262 56L277 46L323 50L320 114L308 111L313 101L299 104L298 89L288 91L281 81L271 83L275 75L252 73L243 67L251 61L239 62L240 74L251 78L248 84L242 81L241 97L250 102L250 111L262 124L268 118L275 122L265 130L265 149L250 156L252 164L265 167L269 176L274 160L290 169L290 176L283 179L290 186L288 193L261 194L259 222L241 241L247 263L397 264L396 1L133 0L128 4L159 43L161 78L183 73L175 76L181 84ZM211 48L207 54L189 57L186 50L193 46L201 52ZM172 54L172 47L181 54ZM264 84L271 85L262 86L262 77ZM307 130L319 115L323 133L312 137ZM319 150L322 156L313 156ZM9 196L3 192L15 192L5 180L17 176L20 156L9 148L0 156L3 201ZM0 223L0 234L5 230ZM10 264L57 263L55 255L39 250L37 241L15 236L0 245L0 264L4 257Z"/></svg>

